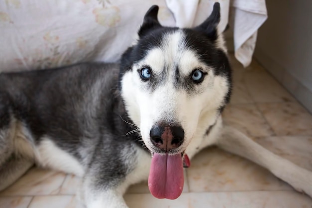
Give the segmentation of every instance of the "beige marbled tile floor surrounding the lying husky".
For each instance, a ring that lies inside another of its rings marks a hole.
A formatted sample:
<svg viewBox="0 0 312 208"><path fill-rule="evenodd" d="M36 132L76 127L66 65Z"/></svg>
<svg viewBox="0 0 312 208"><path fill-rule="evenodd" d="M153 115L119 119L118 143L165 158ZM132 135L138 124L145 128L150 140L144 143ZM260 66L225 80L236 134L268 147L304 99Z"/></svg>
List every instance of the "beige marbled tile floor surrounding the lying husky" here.
<svg viewBox="0 0 312 208"><path fill-rule="evenodd" d="M237 61L233 66L234 92L225 122L312 171L312 115L256 61L248 69ZM34 168L0 193L0 208L81 208L75 198L79 181ZM177 200L155 199L147 183L131 187L125 199L130 208L312 208L311 198L264 168L215 147L192 160Z"/></svg>

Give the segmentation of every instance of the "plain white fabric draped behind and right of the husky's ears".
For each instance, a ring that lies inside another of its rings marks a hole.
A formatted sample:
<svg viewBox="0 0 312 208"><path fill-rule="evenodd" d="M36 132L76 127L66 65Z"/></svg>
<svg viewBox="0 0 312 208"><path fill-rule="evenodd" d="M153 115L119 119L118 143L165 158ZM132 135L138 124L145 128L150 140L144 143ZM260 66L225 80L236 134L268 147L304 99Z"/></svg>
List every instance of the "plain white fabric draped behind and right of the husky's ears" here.
<svg viewBox="0 0 312 208"><path fill-rule="evenodd" d="M200 24L215 1L221 7L218 29L224 31L229 23L234 32L235 57L246 67L256 46L257 31L268 17L265 0L166 0L179 27Z"/></svg>

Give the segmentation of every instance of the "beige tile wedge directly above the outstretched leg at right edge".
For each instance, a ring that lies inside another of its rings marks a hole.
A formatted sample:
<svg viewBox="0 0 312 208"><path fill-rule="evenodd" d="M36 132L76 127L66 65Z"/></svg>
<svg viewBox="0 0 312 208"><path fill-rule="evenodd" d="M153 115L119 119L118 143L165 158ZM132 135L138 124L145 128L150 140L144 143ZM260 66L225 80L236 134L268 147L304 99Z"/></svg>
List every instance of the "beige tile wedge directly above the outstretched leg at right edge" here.
<svg viewBox="0 0 312 208"><path fill-rule="evenodd" d="M257 138L256 142L293 163L312 171L312 136Z"/></svg>

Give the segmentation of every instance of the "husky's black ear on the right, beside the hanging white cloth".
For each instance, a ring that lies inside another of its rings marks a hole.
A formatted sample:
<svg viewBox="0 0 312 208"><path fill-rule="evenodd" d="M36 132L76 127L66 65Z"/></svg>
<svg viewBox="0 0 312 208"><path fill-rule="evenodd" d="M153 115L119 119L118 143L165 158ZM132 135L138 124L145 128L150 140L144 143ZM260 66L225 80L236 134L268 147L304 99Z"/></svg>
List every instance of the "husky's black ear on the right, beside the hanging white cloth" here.
<svg viewBox="0 0 312 208"><path fill-rule="evenodd" d="M200 25L195 27L197 30L205 32L209 38L216 40L218 37L217 26L220 22L220 3L215 2L210 16Z"/></svg>

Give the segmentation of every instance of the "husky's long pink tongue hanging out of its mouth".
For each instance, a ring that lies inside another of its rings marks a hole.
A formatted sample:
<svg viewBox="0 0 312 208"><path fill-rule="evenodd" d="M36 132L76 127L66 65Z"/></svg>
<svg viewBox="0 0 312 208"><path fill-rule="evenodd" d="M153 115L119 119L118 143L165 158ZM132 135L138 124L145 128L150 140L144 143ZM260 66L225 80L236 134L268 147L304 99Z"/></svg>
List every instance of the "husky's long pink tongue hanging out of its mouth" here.
<svg viewBox="0 0 312 208"><path fill-rule="evenodd" d="M152 195L158 199L175 200L181 195L183 185L181 155L159 155L155 153L149 176L149 189Z"/></svg>

